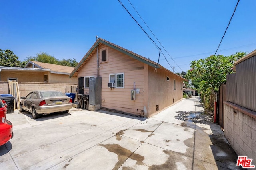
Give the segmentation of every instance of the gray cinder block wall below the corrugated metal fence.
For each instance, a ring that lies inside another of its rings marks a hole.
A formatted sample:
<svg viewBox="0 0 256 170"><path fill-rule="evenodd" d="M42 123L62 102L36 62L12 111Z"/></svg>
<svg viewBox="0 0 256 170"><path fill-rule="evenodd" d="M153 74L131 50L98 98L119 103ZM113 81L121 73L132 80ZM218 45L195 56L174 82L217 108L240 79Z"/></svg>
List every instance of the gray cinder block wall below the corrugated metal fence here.
<svg viewBox="0 0 256 170"><path fill-rule="evenodd" d="M230 102L224 105L224 133L238 156L248 156L256 165L256 112Z"/></svg>

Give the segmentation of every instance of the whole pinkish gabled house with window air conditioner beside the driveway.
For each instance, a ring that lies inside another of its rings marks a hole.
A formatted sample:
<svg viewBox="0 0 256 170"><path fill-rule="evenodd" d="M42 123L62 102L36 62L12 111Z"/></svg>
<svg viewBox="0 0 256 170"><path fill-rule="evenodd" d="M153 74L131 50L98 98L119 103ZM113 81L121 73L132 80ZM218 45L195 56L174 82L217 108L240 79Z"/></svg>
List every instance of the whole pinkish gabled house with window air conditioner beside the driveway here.
<svg viewBox="0 0 256 170"><path fill-rule="evenodd" d="M183 99L181 76L132 51L99 38L70 74L89 109L151 117Z"/></svg>

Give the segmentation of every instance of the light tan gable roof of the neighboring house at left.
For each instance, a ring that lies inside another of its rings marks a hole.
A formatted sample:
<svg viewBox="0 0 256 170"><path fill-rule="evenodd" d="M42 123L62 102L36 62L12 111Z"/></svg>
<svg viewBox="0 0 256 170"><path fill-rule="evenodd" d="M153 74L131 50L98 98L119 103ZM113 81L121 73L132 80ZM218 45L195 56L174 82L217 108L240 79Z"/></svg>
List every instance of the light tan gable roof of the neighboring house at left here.
<svg viewBox="0 0 256 170"><path fill-rule="evenodd" d="M49 64L49 63L42 63L39 61L29 61L25 68L42 68L42 69L50 69L50 73L55 74L66 74L69 75L72 70L74 70L74 67L68 67L68 66L61 66L57 64Z"/></svg>

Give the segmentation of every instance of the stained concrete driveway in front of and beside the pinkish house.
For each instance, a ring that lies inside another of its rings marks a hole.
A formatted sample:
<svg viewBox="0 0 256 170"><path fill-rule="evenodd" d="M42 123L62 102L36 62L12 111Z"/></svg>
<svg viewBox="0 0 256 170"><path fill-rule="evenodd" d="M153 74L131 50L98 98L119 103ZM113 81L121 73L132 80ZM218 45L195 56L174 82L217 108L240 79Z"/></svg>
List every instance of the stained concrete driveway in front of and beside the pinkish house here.
<svg viewBox="0 0 256 170"><path fill-rule="evenodd" d="M219 125L190 98L146 119L73 108L32 119L7 115L14 138L0 147L0 167L22 169L239 169Z"/></svg>

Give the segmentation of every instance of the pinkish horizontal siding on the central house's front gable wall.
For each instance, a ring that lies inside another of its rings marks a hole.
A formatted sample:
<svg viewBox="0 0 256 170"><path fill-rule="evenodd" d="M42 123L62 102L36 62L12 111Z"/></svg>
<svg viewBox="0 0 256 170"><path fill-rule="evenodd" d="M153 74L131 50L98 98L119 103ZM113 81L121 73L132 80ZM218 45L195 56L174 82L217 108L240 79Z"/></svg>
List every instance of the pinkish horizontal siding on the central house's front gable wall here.
<svg viewBox="0 0 256 170"><path fill-rule="evenodd" d="M100 45L100 49L107 47ZM99 53L99 59L101 58ZM126 113L136 114L137 110L143 110L144 104L144 64L128 55L108 47L108 62L101 63L99 76L102 77L102 104L101 106L108 109L114 109ZM109 75L124 73L124 88L108 88ZM86 62L78 73L78 77L97 76L97 54L95 53ZM133 84L140 89L140 94L136 94L136 100L131 100L131 90ZM89 89L84 89L84 94Z"/></svg>

